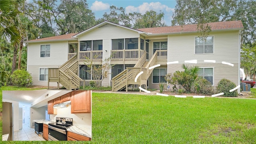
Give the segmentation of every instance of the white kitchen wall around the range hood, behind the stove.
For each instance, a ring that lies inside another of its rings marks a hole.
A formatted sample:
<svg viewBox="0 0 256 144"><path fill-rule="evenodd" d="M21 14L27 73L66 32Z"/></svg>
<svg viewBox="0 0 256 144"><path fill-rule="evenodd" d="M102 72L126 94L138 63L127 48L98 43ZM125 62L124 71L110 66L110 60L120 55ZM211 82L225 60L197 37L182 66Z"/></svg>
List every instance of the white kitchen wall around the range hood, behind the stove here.
<svg viewBox="0 0 256 144"><path fill-rule="evenodd" d="M81 117L84 117L84 120ZM56 120L56 117L73 118L74 126L81 126L91 128L92 126L92 114L71 114L71 105L67 108L57 109L57 114L51 114L50 119Z"/></svg>

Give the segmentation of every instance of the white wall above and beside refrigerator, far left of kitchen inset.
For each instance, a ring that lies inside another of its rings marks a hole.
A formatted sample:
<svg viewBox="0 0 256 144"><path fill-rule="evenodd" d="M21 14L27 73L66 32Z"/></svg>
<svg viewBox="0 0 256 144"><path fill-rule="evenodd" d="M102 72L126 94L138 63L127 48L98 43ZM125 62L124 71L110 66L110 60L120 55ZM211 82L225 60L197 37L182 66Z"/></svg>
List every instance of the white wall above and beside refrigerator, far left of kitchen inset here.
<svg viewBox="0 0 256 144"><path fill-rule="evenodd" d="M19 130L19 102L3 99L2 102L11 102L13 104L14 131Z"/></svg>

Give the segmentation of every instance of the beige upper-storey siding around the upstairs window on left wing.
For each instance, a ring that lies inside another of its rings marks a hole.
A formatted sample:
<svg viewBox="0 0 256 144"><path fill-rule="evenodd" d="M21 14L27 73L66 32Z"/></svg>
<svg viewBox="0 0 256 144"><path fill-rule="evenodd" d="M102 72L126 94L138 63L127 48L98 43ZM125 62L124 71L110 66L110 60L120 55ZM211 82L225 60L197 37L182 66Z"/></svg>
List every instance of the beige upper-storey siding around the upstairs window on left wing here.
<svg viewBox="0 0 256 144"><path fill-rule="evenodd" d="M50 44L50 57L40 57L40 46ZM62 65L68 60L68 42L42 42L28 44L28 66Z"/></svg>

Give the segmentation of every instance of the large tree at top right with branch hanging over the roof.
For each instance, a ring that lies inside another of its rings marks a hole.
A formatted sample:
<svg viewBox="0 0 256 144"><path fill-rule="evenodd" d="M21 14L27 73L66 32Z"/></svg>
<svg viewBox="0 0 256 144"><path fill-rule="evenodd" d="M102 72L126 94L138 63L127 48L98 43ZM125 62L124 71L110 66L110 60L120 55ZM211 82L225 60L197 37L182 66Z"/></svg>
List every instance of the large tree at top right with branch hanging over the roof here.
<svg viewBox="0 0 256 144"><path fill-rule="evenodd" d="M254 0L177 0L172 25L198 24L200 36L211 31L208 22L242 20L245 42L256 40L256 1Z"/></svg>

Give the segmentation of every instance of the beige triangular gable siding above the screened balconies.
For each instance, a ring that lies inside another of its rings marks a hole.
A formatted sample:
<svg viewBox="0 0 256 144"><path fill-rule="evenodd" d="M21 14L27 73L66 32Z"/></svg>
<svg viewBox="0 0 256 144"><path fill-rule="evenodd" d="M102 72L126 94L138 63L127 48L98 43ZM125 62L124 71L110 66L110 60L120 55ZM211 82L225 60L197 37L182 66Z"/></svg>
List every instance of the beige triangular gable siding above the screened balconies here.
<svg viewBox="0 0 256 144"><path fill-rule="evenodd" d="M118 39L118 38L139 38L138 32L114 26L111 24L105 24L99 28L95 28L90 32L86 32L78 37L78 41L82 40L102 40L102 39Z"/></svg>

